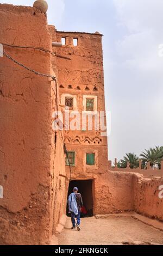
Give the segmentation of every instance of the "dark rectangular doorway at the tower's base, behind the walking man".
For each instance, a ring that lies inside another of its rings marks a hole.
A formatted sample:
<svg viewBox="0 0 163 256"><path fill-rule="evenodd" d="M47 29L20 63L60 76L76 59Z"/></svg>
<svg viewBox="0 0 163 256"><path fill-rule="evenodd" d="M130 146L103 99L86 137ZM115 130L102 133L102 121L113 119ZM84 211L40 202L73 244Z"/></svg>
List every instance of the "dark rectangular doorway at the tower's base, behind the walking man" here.
<svg viewBox="0 0 163 256"><path fill-rule="evenodd" d="M82 195L83 205L86 209L86 214L81 213L81 217L93 216L93 196L92 196L92 180L72 180L68 187L68 196L73 192L73 188L78 187L78 192ZM67 216L68 205L67 205Z"/></svg>

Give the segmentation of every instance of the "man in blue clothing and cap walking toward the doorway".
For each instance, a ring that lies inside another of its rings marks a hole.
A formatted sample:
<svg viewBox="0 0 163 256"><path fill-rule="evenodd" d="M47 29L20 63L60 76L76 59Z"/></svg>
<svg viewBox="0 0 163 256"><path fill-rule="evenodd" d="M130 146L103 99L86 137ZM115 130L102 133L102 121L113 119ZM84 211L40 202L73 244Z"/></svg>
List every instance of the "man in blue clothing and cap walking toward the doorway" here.
<svg viewBox="0 0 163 256"><path fill-rule="evenodd" d="M80 231L80 211L83 206L83 200L81 194L78 193L77 187L73 188L73 193L68 197L67 203L69 212L71 213L71 229L76 229L77 227L78 231ZM75 218L77 218L77 225Z"/></svg>

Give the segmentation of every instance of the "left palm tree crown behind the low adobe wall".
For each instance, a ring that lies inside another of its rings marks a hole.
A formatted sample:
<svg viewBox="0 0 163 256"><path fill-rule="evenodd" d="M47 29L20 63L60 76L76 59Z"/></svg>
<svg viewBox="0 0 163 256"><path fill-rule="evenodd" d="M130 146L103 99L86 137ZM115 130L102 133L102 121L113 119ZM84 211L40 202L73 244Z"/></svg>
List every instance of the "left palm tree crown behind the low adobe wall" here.
<svg viewBox="0 0 163 256"><path fill-rule="evenodd" d="M118 162L118 166L120 166L120 168L126 168L127 162L130 163L131 169L139 167L139 157L134 153L126 154L126 156L124 156L123 159Z"/></svg>

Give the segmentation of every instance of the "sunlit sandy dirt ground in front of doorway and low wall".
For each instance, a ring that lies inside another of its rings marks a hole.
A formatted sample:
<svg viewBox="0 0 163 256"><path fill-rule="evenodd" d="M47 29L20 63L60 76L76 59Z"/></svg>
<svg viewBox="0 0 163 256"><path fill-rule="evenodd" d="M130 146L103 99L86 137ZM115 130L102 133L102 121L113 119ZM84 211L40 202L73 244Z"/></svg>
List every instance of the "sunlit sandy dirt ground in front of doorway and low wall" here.
<svg viewBox="0 0 163 256"><path fill-rule="evenodd" d="M163 245L163 231L131 217L82 218L81 230L71 230L67 218L58 236L59 245L121 245L126 241L151 242Z"/></svg>

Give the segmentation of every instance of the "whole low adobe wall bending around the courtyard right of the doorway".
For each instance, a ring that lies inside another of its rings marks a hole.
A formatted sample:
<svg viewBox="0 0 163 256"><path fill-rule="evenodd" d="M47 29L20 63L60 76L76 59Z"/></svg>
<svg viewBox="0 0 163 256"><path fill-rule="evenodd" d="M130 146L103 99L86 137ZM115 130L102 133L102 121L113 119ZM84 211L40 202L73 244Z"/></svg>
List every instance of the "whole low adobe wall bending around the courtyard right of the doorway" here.
<svg viewBox="0 0 163 256"><path fill-rule="evenodd" d="M159 186L163 178L143 178L142 174L113 172L95 179L95 214L136 211L142 215L163 220L163 199Z"/></svg>

